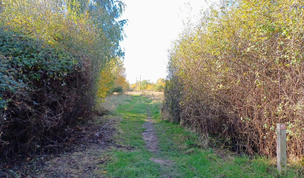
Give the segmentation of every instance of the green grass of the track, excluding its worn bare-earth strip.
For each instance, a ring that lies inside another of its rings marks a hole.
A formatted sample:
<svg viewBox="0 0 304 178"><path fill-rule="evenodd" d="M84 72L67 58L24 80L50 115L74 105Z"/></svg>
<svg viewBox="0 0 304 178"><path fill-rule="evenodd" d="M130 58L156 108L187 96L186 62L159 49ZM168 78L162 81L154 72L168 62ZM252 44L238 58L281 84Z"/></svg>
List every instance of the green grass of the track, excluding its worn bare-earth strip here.
<svg viewBox="0 0 304 178"><path fill-rule="evenodd" d="M116 125L116 144L107 154L111 159L103 166L105 177L152 178L152 177L278 177L275 165L268 159L249 159L226 156L221 159L212 149L200 148L199 135L188 132L179 124L161 120L159 102L145 97L131 96L128 103L119 105L116 115L122 119ZM147 150L141 133L147 111L156 121L154 127L159 139L156 154ZM151 157L171 160L171 165L161 165ZM300 167L289 167L281 177L300 177Z"/></svg>

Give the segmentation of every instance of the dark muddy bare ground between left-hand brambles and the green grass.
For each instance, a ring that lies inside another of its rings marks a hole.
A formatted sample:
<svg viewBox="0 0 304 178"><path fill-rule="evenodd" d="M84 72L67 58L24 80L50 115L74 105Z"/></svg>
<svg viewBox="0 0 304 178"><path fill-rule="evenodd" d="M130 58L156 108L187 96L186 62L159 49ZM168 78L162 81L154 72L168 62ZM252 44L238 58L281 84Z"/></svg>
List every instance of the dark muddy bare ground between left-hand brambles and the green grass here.
<svg viewBox="0 0 304 178"><path fill-rule="evenodd" d="M12 161L2 161L0 178L103 177L100 169L109 159L104 150L111 146L121 147L112 139L115 132L113 124L118 120L97 117L86 124L68 128L68 136L61 145L60 153L26 155Z"/></svg>

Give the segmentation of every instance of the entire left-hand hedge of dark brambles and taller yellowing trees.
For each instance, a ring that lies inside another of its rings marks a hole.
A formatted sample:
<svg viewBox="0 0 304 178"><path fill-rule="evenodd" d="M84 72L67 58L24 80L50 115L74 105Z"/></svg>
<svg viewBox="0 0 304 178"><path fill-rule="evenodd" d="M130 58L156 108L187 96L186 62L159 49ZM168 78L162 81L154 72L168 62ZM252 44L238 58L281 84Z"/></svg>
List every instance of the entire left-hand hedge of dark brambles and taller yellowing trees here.
<svg viewBox="0 0 304 178"><path fill-rule="evenodd" d="M54 151L64 128L91 118L100 84L110 89L116 80L102 74L123 69L126 20L117 19L124 7L112 0L1 1L1 158Z"/></svg>

